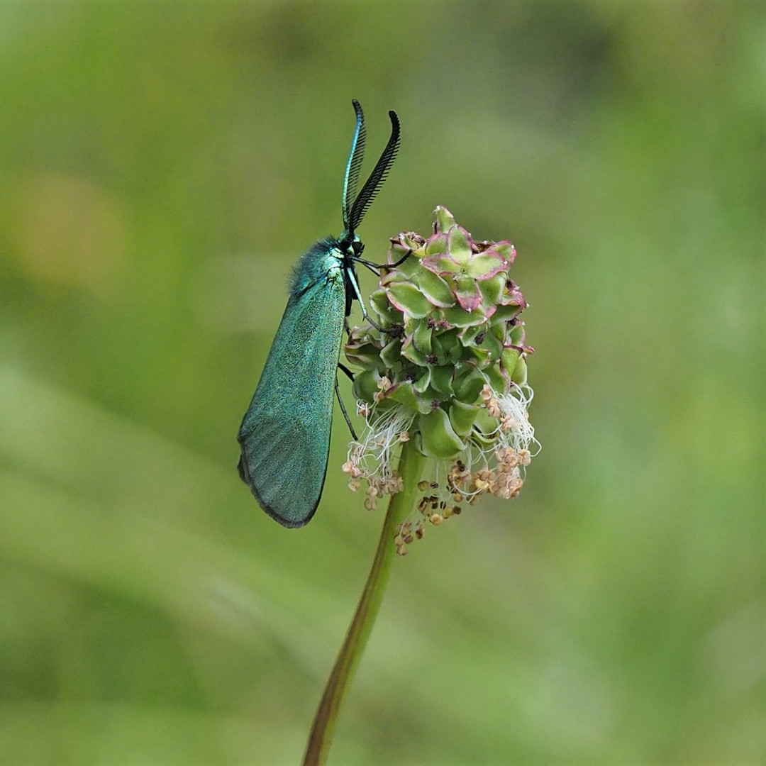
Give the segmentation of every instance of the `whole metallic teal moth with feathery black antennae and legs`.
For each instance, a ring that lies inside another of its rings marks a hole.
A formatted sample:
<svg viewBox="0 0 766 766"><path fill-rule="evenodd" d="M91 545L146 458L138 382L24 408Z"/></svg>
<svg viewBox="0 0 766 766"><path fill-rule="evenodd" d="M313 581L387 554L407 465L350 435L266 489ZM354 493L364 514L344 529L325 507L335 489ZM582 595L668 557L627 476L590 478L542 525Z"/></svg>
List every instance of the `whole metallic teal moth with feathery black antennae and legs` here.
<svg viewBox="0 0 766 766"><path fill-rule="evenodd" d="M354 299L371 321L359 293L355 264L373 269L379 265L362 258L364 245L356 229L399 149L399 119L389 112L391 138L356 195L365 152L365 116L359 102L352 103L356 128L343 181L343 233L313 244L294 268L290 299L237 435L242 480L260 507L286 527L307 524L322 496L337 370L348 373L338 357ZM343 414L351 427L345 408Z"/></svg>

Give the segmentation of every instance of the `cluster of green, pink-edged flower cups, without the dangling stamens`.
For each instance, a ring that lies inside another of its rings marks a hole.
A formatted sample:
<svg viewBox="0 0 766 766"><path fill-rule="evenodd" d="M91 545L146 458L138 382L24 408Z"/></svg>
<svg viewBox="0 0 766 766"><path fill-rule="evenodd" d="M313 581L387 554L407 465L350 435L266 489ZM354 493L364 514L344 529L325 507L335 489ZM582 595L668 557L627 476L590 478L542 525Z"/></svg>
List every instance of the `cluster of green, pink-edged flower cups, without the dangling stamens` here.
<svg viewBox="0 0 766 766"><path fill-rule="evenodd" d="M436 209L434 234L400 234L388 263L411 255L381 278L371 296L376 322L352 330L345 355L362 368L359 401L376 417L404 406L428 457L452 458L466 437L483 431L482 391L498 395L526 382L524 296L510 279L516 249L508 241L476 242L450 211Z"/></svg>

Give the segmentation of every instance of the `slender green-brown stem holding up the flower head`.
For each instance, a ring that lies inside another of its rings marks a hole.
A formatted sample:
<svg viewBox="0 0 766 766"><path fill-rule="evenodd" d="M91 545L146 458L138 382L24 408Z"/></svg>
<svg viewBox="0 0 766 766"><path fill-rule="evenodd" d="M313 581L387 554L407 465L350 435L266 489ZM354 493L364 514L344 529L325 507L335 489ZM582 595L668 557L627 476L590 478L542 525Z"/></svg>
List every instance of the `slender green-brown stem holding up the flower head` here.
<svg viewBox="0 0 766 766"><path fill-rule="evenodd" d="M349 625L348 633L345 634L343 646L338 653L325 693L322 695L322 701L319 702L319 708L314 716L306 745L306 755L303 757L303 766L322 766L327 761L345 692L351 685L359 660L362 659L372 626L375 624L375 617L383 601L388 575L391 574L391 565L396 557L394 546L396 527L407 518L414 507L417 483L423 473L424 462L425 458L411 441L402 444L399 475L404 488L401 492L392 495L388 502L378 550L372 561L365 590L362 591L354 618Z"/></svg>

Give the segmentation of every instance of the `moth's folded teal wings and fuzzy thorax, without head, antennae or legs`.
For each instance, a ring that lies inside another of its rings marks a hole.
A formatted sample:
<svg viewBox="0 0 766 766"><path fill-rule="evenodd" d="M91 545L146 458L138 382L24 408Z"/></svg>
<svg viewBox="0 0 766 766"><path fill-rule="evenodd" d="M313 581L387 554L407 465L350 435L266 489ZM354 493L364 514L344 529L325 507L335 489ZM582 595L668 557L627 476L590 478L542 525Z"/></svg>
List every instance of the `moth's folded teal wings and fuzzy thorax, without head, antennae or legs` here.
<svg viewBox="0 0 766 766"><path fill-rule="evenodd" d="M345 319L335 241L300 260L290 300L237 440L240 476L286 527L314 515L327 473L332 399Z"/></svg>

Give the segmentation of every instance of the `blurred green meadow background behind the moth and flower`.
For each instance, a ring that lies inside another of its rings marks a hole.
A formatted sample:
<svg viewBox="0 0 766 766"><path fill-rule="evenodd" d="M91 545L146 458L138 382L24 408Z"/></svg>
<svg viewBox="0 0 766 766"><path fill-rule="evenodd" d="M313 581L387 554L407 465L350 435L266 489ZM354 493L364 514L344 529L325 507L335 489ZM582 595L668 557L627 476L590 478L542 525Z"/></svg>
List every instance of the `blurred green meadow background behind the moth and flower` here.
<svg viewBox="0 0 766 766"><path fill-rule="evenodd" d="M355 97L368 257L515 242L544 448L397 561L331 763L763 763L764 21L0 4L0 762L300 762L382 516L340 418L300 531L234 437Z"/></svg>

